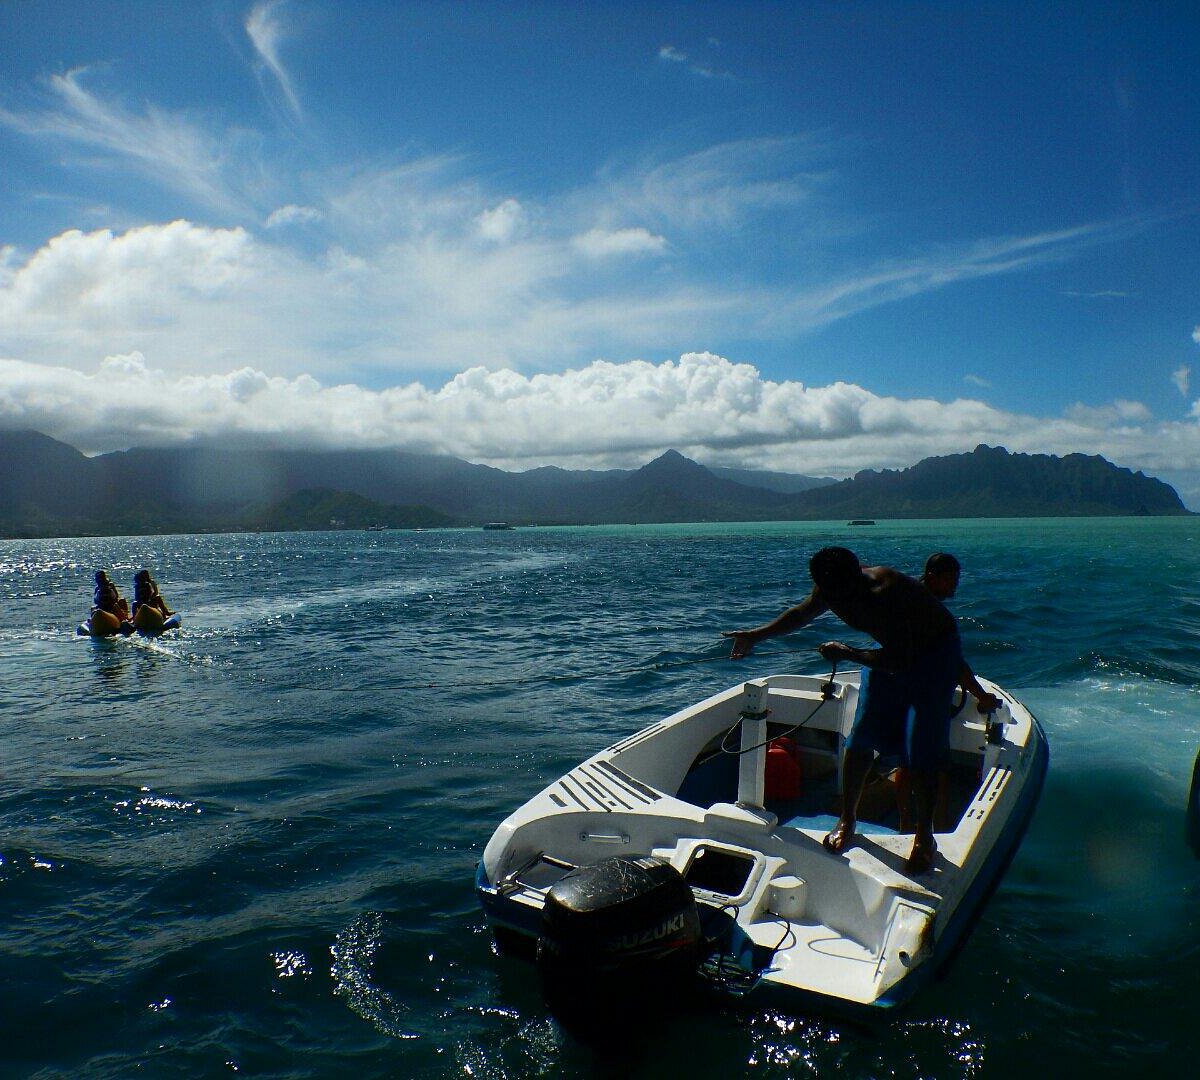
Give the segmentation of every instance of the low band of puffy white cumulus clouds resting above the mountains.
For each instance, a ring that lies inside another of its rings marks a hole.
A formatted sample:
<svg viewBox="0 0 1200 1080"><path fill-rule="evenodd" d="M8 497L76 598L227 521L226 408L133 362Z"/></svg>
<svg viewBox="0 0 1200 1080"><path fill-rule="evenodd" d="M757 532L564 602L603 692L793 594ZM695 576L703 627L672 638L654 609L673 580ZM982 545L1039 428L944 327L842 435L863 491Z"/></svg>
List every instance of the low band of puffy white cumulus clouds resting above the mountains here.
<svg viewBox="0 0 1200 1080"><path fill-rule="evenodd" d="M90 373L0 360L0 425L88 451L214 438L582 468L635 467L674 448L714 464L832 476L990 443L1013 452L1103 454L1152 475L1171 473L1200 497L1200 473L1178 469L1200 461L1200 425L1156 422L1136 402L1048 420L971 400L883 397L851 383L776 383L708 353L664 364L596 361L558 374L474 366L436 389L379 390L250 365L172 374L136 353L108 356Z"/></svg>

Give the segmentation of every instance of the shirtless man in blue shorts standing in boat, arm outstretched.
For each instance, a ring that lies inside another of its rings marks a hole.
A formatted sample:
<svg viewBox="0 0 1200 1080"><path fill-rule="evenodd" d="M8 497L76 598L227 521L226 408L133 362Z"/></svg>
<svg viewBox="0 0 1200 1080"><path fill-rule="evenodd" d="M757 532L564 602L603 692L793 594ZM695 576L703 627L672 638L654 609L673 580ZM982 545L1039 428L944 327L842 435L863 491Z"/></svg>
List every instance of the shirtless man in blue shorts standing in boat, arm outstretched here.
<svg viewBox="0 0 1200 1080"><path fill-rule="evenodd" d="M910 770L917 804L906 869L922 874L937 852L934 790L962 664L958 623L920 582L890 566L863 566L845 547L823 547L809 562L809 572L812 592L794 607L754 630L725 631L733 638L730 655L740 659L756 642L799 630L827 611L878 643L874 649L840 641L818 647L826 660L863 666L858 713L842 764L841 817L824 845L835 854L850 845L875 754L898 756Z"/></svg>

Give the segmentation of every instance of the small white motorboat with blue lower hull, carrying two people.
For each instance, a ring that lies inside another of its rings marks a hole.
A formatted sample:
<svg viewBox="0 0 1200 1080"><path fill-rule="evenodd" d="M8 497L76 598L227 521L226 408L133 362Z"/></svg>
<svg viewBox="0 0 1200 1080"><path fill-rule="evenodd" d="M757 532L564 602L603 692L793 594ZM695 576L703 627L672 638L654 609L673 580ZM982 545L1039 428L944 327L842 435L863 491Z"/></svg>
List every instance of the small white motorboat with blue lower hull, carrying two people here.
<svg viewBox="0 0 1200 1080"><path fill-rule="evenodd" d="M886 778L864 794L854 841L823 847L859 673L770 676L601 750L511 814L476 875L498 940L536 942L560 980L580 959L581 984L626 960L641 980L654 955L688 956L736 994L851 1010L910 1000L974 925L1046 773L1042 726L982 682L1001 708L985 718L971 702L952 720L932 869L906 872L912 835Z"/></svg>

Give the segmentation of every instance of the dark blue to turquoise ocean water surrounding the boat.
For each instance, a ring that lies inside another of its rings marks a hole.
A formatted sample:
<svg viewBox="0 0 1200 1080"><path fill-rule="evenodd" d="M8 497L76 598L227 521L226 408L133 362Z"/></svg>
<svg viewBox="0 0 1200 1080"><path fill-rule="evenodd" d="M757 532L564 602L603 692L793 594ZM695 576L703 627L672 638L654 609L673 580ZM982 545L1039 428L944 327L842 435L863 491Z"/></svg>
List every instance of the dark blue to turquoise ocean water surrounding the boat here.
<svg viewBox="0 0 1200 1080"><path fill-rule="evenodd" d="M697 1007L581 1042L473 892L499 821L832 617L720 631L829 544L965 574L1042 720L1031 830L947 978L874 1025ZM91 572L182 631L92 642ZM1180 1076L1200 1057L1200 518L0 542L0 1076ZM1031 1072L1032 1070L1032 1072Z"/></svg>

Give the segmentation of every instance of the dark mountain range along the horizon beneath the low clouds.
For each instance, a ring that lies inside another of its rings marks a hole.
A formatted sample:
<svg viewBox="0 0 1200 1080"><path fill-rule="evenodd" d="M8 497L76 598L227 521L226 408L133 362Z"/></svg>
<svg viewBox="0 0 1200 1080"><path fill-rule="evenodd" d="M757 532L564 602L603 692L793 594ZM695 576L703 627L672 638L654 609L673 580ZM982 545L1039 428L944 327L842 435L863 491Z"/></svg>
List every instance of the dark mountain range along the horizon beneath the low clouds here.
<svg viewBox="0 0 1200 1080"><path fill-rule="evenodd" d="M0 535L116 535L683 521L1181 515L1169 485L1103 457L977 446L848 480L709 469L509 473L401 450L132 449L86 457L0 432Z"/></svg>

